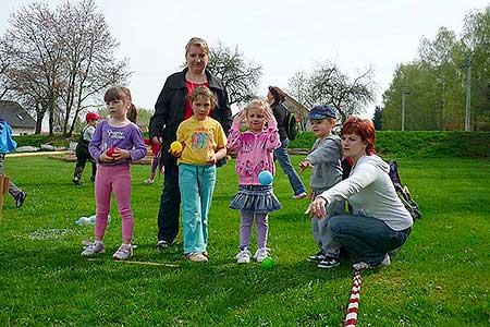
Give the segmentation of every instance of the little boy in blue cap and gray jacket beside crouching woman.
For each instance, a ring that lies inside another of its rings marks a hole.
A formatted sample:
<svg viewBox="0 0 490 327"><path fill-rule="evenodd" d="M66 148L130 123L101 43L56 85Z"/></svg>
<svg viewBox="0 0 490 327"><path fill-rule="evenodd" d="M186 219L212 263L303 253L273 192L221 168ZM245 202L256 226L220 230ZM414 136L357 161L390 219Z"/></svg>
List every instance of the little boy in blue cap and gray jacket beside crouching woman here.
<svg viewBox="0 0 490 327"><path fill-rule="evenodd" d="M332 135L335 126L336 114L328 105L314 107L308 114L311 131L318 138L315 141L309 155L299 162L304 171L311 168L309 186L311 197L315 198L323 191L329 190L342 181L343 157L341 138ZM327 228L328 218L344 211L345 203L333 202L327 208L327 215L322 218L311 218L311 232L318 253L310 255L308 261L318 263L319 268L332 268L338 266L340 244L333 241L331 232Z"/></svg>

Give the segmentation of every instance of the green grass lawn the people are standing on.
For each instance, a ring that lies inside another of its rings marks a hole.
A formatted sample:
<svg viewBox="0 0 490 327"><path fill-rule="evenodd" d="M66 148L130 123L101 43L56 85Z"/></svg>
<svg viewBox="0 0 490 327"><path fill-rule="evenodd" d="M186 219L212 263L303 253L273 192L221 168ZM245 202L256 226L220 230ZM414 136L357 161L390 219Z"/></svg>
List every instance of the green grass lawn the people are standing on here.
<svg viewBox="0 0 490 327"><path fill-rule="evenodd" d="M399 162L425 217L391 266L363 272L358 326L488 326L490 162ZM83 258L81 241L94 228L75 220L95 214L88 171L75 186L72 162L7 158L5 172L28 196L21 209L10 196L3 207L0 326L343 326L351 263L320 270L306 262L316 250L303 215L307 201L291 198L281 171L274 189L284 208L271 215L269 233L275 267L235 264L240 218L228 207L237 187L233 164L218 170L209 264L185 262L181 239L168 252L152 249L162 180L145 186L149 167L132 167L134 261L180 266L169 268L112 262L121 242L114 203L108 253L100 262Z"/></svg>

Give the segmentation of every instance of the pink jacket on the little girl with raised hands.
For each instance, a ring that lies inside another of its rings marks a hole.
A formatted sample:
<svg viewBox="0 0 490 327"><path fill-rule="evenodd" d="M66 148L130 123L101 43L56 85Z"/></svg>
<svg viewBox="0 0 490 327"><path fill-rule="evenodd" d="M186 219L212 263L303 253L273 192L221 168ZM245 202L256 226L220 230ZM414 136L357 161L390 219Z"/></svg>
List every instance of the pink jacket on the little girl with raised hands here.
<svg viewBox="0 0 490 327"><path fill-rule="evenodd" d="M235 171L241 185L260 185L258 174L269 170L275 174L272 152L281 146L278 123L269 121L269 126L259 134L250 131L240 132L240 123L233 122L228 136L226 148L236 150Z"/></svg>

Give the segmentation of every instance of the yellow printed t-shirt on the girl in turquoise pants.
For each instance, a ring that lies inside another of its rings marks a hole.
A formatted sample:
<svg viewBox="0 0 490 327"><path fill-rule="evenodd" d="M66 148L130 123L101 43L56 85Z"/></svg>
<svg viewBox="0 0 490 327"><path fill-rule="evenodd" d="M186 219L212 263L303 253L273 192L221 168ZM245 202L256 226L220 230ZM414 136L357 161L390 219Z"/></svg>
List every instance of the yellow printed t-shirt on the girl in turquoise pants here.
<svg viewBox="0 0 490 327"><path fill-rule="evenodd" d="M179 125L176 140L184 146L177 164L205 166L209 157L226 146L223 128L210 117L198 120L193 116L184 120Z"/></svg>

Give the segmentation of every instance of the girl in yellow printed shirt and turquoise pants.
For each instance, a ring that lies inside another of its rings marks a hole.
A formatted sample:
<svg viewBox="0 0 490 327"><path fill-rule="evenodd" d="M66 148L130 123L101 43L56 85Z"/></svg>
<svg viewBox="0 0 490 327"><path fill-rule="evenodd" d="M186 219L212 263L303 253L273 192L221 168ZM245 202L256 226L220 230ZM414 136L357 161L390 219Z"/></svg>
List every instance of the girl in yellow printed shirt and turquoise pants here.
<svg viewBox="0 0 490 327"><path fill-rule="evenodd" d="M179 187L182 198L184 255L191 262L208 262L208 215L216 184L216 162L226 155L226 136L221 124L209 117L217 99L206 86L191 94L193 116L176 131L181 152Z"/></svg>

